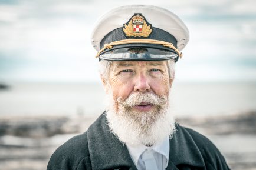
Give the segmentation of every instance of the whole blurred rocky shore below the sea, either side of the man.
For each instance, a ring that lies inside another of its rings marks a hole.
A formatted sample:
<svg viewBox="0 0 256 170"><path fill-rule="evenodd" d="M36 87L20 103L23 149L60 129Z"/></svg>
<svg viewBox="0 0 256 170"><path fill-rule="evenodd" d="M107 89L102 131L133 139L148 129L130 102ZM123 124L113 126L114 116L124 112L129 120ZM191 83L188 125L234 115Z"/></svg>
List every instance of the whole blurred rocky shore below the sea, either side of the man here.
<svg viewBox="0 0 256 170"><path fill-rule="evenodd" d="M96 118L0 118L0 169L46 169L55 149L85 131ZM256 169L256 112L178 118L210 138L231 169Z"/></svg>

